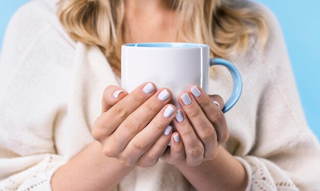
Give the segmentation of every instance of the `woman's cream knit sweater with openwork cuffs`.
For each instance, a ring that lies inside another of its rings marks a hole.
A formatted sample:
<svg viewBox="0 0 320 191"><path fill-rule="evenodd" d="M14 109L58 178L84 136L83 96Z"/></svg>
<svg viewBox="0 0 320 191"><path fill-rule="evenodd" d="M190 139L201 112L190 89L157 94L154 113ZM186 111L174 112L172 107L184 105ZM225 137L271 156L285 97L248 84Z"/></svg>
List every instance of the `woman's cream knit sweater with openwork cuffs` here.
<svg viewBox="0 0 320 191"><path fill-rule="evenodd" d="M97 46L68 37L55 3L22 6L7 29L0 62L0 190L51 190L53 173L93 141L103 89L120 86ZM243 94L225 114L230 138L223 147L245 166L247 190L320 190L320 147L305 121L277 19L262 8L270 30L265 51L253 35L248 51L229 59L242 74ZM216 69L209 93L226 99L231 78ZM115 190L192 188L159 160L136 167Z"/></svg>

